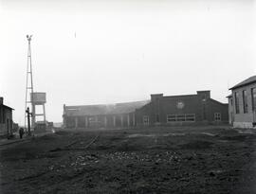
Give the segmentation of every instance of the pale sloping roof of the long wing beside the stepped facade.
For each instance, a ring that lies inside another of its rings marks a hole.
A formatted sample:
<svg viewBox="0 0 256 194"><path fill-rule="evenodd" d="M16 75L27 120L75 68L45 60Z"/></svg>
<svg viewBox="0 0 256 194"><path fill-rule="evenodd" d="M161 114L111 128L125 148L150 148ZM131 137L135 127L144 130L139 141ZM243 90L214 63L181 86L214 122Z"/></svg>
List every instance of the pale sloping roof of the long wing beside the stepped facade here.
<svg viewBox="0 0 256 194"><path fill-rule="evenodd" d="M99 104L82 106L65 106L64 115L118 115L135 112L136 109L149 103L149 100L117 104Z"/></svg>

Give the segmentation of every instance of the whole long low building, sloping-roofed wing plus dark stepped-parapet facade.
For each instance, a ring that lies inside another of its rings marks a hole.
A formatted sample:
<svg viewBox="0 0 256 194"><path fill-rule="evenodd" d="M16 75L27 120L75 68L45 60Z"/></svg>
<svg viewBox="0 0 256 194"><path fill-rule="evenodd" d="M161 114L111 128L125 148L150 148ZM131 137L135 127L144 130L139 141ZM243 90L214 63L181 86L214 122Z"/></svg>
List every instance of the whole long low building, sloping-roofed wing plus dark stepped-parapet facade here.
<svg viewBox="0 0 256 194"><path fill-rule="evenodd" d="M151 100L111 105L64 105L64 128L125 128L157 125L220 124L229 122L229 104L195 95L151 95Z"/></svg>

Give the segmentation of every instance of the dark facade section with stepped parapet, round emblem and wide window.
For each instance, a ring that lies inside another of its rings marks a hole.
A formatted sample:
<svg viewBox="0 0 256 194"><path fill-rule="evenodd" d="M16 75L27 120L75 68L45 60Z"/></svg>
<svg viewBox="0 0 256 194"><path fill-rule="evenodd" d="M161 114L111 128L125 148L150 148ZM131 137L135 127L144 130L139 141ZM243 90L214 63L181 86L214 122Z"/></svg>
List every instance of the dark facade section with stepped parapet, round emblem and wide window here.
<svg viewBox="0 0 256 194"><path fill-rule="evenodd" d="M157 94L136 111L136 119L138 126L221 124L229 122L228 107L210 98L210 91L170 97Z"/></svg>

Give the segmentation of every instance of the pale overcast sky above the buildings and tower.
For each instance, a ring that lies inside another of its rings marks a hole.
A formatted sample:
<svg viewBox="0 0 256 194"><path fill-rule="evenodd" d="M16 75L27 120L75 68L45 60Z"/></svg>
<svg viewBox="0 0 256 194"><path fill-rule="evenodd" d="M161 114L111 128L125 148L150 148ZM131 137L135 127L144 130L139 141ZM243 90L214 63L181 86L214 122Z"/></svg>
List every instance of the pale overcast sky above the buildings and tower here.
<svg viewBox="0 0 256 194"><path fill-rule="evenodd" d="M0 96L24 123L27 34L46 119L63 106L229 88L256 75L253 0L0 0Z"/></svg>

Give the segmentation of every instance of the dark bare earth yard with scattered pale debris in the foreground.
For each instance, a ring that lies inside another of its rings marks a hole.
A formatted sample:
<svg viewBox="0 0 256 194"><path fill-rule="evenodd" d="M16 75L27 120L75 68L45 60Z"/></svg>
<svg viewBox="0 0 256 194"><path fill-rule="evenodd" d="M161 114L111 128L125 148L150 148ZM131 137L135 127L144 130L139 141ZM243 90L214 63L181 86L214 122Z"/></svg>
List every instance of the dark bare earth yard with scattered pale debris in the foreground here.
<svg viewBox="0 0 256 194"><path fill-rule="evenodd" d="M0 147L0 193L256 193L256 134L64 131Z"/></svg>

